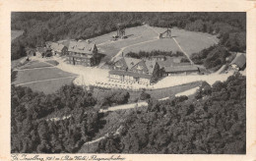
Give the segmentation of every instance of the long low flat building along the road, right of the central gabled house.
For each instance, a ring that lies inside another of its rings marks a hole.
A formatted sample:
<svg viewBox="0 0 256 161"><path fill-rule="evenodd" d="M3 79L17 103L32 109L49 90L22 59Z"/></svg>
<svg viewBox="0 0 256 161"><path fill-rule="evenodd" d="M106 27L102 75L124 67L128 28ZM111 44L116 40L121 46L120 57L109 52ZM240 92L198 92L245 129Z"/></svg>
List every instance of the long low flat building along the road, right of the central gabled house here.
<svg viewBox="0 0 256 161"><path fill-rule="evenodd" d="M191 75L200 73L199 68L193 65L164 67L165 76Z"/></svg>

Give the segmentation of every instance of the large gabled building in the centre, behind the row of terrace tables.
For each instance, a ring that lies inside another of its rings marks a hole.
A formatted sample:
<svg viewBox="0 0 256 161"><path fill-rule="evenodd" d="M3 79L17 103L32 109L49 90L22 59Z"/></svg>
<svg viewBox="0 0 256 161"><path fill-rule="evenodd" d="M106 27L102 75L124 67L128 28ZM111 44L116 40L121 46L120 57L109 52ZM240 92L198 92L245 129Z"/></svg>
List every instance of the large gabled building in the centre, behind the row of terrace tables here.
<svg viewBox="0 0 256 161"><path fill-rule="evenodd" d="M150 84L160 79L160 66L156 61L118 57L109 72L109 80Z"/></svg>

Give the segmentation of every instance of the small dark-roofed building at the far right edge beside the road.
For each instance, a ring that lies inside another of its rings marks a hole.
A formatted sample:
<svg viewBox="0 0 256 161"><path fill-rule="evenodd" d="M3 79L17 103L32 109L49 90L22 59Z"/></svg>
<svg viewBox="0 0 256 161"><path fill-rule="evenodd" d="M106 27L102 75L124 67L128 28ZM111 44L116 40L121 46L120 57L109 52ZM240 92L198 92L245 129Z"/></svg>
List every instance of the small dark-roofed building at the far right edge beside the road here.
<svg viewBox="0 0 256 161"><path fill-rule="evenodd" d="M235 71L244 70L246 66L246 56L243 53L237 53L235 58L229 64L230 68Z"/></svg>

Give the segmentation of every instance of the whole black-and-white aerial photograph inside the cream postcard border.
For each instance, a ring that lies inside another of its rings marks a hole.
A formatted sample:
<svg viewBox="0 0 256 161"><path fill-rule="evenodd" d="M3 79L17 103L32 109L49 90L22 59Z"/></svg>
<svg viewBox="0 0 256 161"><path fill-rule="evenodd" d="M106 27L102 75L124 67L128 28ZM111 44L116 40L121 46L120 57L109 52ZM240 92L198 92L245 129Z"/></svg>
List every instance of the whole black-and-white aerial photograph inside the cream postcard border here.
<svg viewBox="0 0 256 161"><path fill-rule="evenodd" d="M12 12L11 153L246 154L245 12Z"/></svg>

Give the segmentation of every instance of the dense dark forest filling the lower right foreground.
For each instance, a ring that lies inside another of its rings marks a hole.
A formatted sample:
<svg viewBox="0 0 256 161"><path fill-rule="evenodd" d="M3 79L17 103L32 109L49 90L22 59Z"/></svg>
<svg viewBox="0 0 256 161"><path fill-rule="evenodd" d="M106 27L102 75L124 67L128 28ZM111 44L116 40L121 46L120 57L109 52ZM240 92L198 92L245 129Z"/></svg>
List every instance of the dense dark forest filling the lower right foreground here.
<svg viewBox="0 0 256 161"><path fill-rule="evenodd" d="M210 86L194 99L148 99L134 110L119 135L98 143L99 153L245 154L246 79L240 74Z"/></svg>

